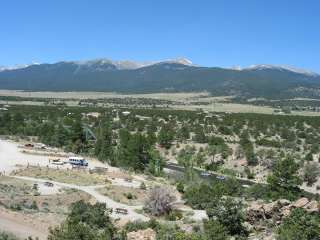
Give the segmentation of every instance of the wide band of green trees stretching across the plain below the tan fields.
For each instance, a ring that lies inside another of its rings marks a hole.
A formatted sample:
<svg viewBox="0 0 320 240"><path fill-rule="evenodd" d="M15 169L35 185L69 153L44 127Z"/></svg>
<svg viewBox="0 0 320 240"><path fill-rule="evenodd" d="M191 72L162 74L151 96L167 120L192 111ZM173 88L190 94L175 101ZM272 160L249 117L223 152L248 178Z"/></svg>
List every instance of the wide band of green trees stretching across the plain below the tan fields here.
<svg viewBox="0 0 320 240"><path fill-rule="evenodd" d="M90 111L100 116L86 116ZM310 161L320 149L319 120L170 109L14 106L0 113L0 134L38 136L39 141L50 146L98 156L102 161L133 170L147 169L152 156L158 154L156 147L168 150L172 146L179 148L180 144L199 143L203 147L192 152L197 155L197 165L215 170L217 159L223 163L233 153L228 147L232 143L239 145L235 156L245 156L253 166L270 165L266 161L278 157L283 150ZM273 150L273 156L261 148Z"/></svg>

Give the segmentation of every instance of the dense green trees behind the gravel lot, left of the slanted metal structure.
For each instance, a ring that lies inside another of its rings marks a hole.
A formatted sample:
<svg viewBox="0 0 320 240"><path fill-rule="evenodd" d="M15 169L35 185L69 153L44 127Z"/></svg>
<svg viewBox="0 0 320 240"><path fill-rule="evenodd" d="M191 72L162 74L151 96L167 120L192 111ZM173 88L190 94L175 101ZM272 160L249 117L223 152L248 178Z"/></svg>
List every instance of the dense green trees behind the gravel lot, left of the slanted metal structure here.
<svg viewBox="0 0 320 240"><path fill-rule="evenodd" d="M41 142L50 146L64 147L75 153L88 151L79 113L68 116L56 108L43 112L42 108L39 109L34 112L16 109L12 113L0 114L0 134L38 136Z"/></svg>

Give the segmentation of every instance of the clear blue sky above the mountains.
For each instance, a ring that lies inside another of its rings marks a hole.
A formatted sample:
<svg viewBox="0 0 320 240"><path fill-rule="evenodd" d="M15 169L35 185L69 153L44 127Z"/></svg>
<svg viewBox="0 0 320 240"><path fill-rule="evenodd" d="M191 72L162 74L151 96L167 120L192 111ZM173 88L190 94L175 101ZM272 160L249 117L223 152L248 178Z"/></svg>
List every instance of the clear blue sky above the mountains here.
<svg viewBox="0 0 320 240"><path fill-rule="evenodd" d="M320 72L318 0L3 0L0 66L185 57Z"/></svg>

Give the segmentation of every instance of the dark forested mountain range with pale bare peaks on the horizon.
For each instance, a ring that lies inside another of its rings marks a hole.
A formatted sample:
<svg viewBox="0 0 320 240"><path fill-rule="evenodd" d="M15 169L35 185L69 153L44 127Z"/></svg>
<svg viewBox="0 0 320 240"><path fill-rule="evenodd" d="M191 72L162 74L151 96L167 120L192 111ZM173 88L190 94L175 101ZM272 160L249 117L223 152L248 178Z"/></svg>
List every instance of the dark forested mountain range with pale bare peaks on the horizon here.
<svg viewBox="0 0 320 240"><path fill-rule="evenodd" d="M276 65L203 67L183 58L158 62L96 59L0 67L0 89L119 93L207 91L213 96L245 98L320 98L320 75Z"/></svg>

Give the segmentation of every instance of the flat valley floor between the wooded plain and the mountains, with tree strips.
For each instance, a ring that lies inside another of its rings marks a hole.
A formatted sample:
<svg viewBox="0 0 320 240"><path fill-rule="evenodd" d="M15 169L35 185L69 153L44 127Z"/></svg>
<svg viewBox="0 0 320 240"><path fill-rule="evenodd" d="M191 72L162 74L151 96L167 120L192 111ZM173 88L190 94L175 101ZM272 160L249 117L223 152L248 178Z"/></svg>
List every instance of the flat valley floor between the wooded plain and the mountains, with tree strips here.
<svg viewBox="0 0 320 240"><path fill-rule="evenodd" d="M2 97L9 97L2 100ZM10 97L16 99L10 99ZM25 92L19 90L0 90L0 104L3 105L32 105L46 106L54 104L66 104L67 106L86 107L150 107L155 105L160 108L175 110L196 111L202 109L208 112L230 112L230 113L260 113L260 114L281 114L276 113L278 108L271 106L258 106L249 102L229 102L233 96L211 97L207 92L198 93L150 93L150 94L119 94L111 92ZM138 103L136 102L138 100ZM312 99L310 99L312 100ZM49 102L48 102L49 101ZM93 103L98 101L97 103ZM129 101L125 102L124 101ZM133 101L130 103L130 101ZM158 104L157 104L157 101ZM166 103L168 101L168 103ZM140 103L139 103L140 102ZM152 102L152 104L150 103ZM1 110L0 110L1 111ZM316 111L291 111L290 115L320 116Z"/></svg>

